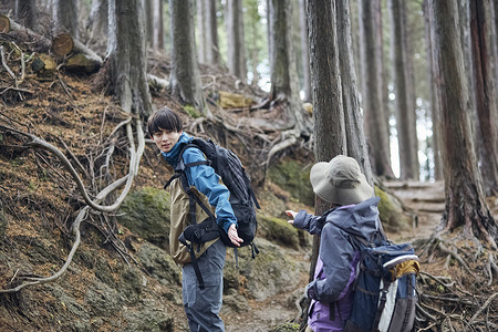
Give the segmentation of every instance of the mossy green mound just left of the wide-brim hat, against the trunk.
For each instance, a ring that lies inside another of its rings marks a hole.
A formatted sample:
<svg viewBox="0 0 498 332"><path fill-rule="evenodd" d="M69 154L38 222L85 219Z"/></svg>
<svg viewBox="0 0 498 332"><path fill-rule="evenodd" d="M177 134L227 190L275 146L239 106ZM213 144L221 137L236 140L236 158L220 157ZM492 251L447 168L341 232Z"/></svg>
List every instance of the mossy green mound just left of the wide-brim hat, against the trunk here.
<svg viewBox="0 0 498 332"><path fill-rule="evenodd" d="M287 158L269 170L270 180L291 196L309 206L314 205L314 193L310 184L310 168Z"/></svg>

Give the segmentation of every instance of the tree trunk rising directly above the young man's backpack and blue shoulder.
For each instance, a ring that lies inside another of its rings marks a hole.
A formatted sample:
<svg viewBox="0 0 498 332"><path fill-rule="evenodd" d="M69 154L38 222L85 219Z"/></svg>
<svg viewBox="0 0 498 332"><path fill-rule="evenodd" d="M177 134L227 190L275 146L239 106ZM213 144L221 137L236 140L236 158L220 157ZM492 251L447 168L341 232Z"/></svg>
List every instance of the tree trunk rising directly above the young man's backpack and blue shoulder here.
<svg viewBox="0 0 498 332"><path fill-rule="evenodd" d="M172 20L172 94L210 115L200 86L194 32L193 0L169 0Z"/></svg>

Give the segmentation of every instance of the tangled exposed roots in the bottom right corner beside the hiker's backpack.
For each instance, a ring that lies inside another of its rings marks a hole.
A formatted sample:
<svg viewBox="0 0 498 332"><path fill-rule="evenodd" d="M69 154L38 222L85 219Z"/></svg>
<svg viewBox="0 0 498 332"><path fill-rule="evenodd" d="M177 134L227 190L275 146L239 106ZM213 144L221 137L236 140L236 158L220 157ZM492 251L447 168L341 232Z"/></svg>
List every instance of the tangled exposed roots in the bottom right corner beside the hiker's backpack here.
<svg viewBox="0 0 498 332"><path fill-rule="evenodd" d="M484 250L473 239L443 232L416 247L421 259L448 264L442 268L448 271L446 276L421 272L416 331L497 331L497 252Z"/></svg>

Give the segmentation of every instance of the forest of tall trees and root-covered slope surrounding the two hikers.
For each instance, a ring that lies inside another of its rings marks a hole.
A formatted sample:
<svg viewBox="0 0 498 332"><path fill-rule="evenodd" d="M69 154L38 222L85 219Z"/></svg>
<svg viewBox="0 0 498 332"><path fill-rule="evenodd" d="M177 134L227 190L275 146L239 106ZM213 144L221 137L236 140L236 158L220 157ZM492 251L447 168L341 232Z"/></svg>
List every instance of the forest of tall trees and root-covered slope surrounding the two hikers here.
<svg viewBox="0 0 498 332"><path fill-rule="evenodd" d="M357 160L419 257L414 331L498 330L497 0L0 0L0 331L188 331L147 120L241 159L226 331L304 331L310 168ZM247 250L245 250L247 249Z"/></svg>

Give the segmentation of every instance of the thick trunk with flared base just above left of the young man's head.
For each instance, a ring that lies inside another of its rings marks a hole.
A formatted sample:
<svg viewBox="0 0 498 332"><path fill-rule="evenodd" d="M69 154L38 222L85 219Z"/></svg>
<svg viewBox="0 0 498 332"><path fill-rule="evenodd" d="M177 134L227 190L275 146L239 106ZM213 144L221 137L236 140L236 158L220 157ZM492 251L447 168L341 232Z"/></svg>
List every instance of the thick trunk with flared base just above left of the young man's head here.
<svg viewBox="0 0 498 332"><path fill-rule="evenodd" d="M147 83L144 10L141 0L108 1L107 63L121 107L148 117L153 113Z"/></svg>

